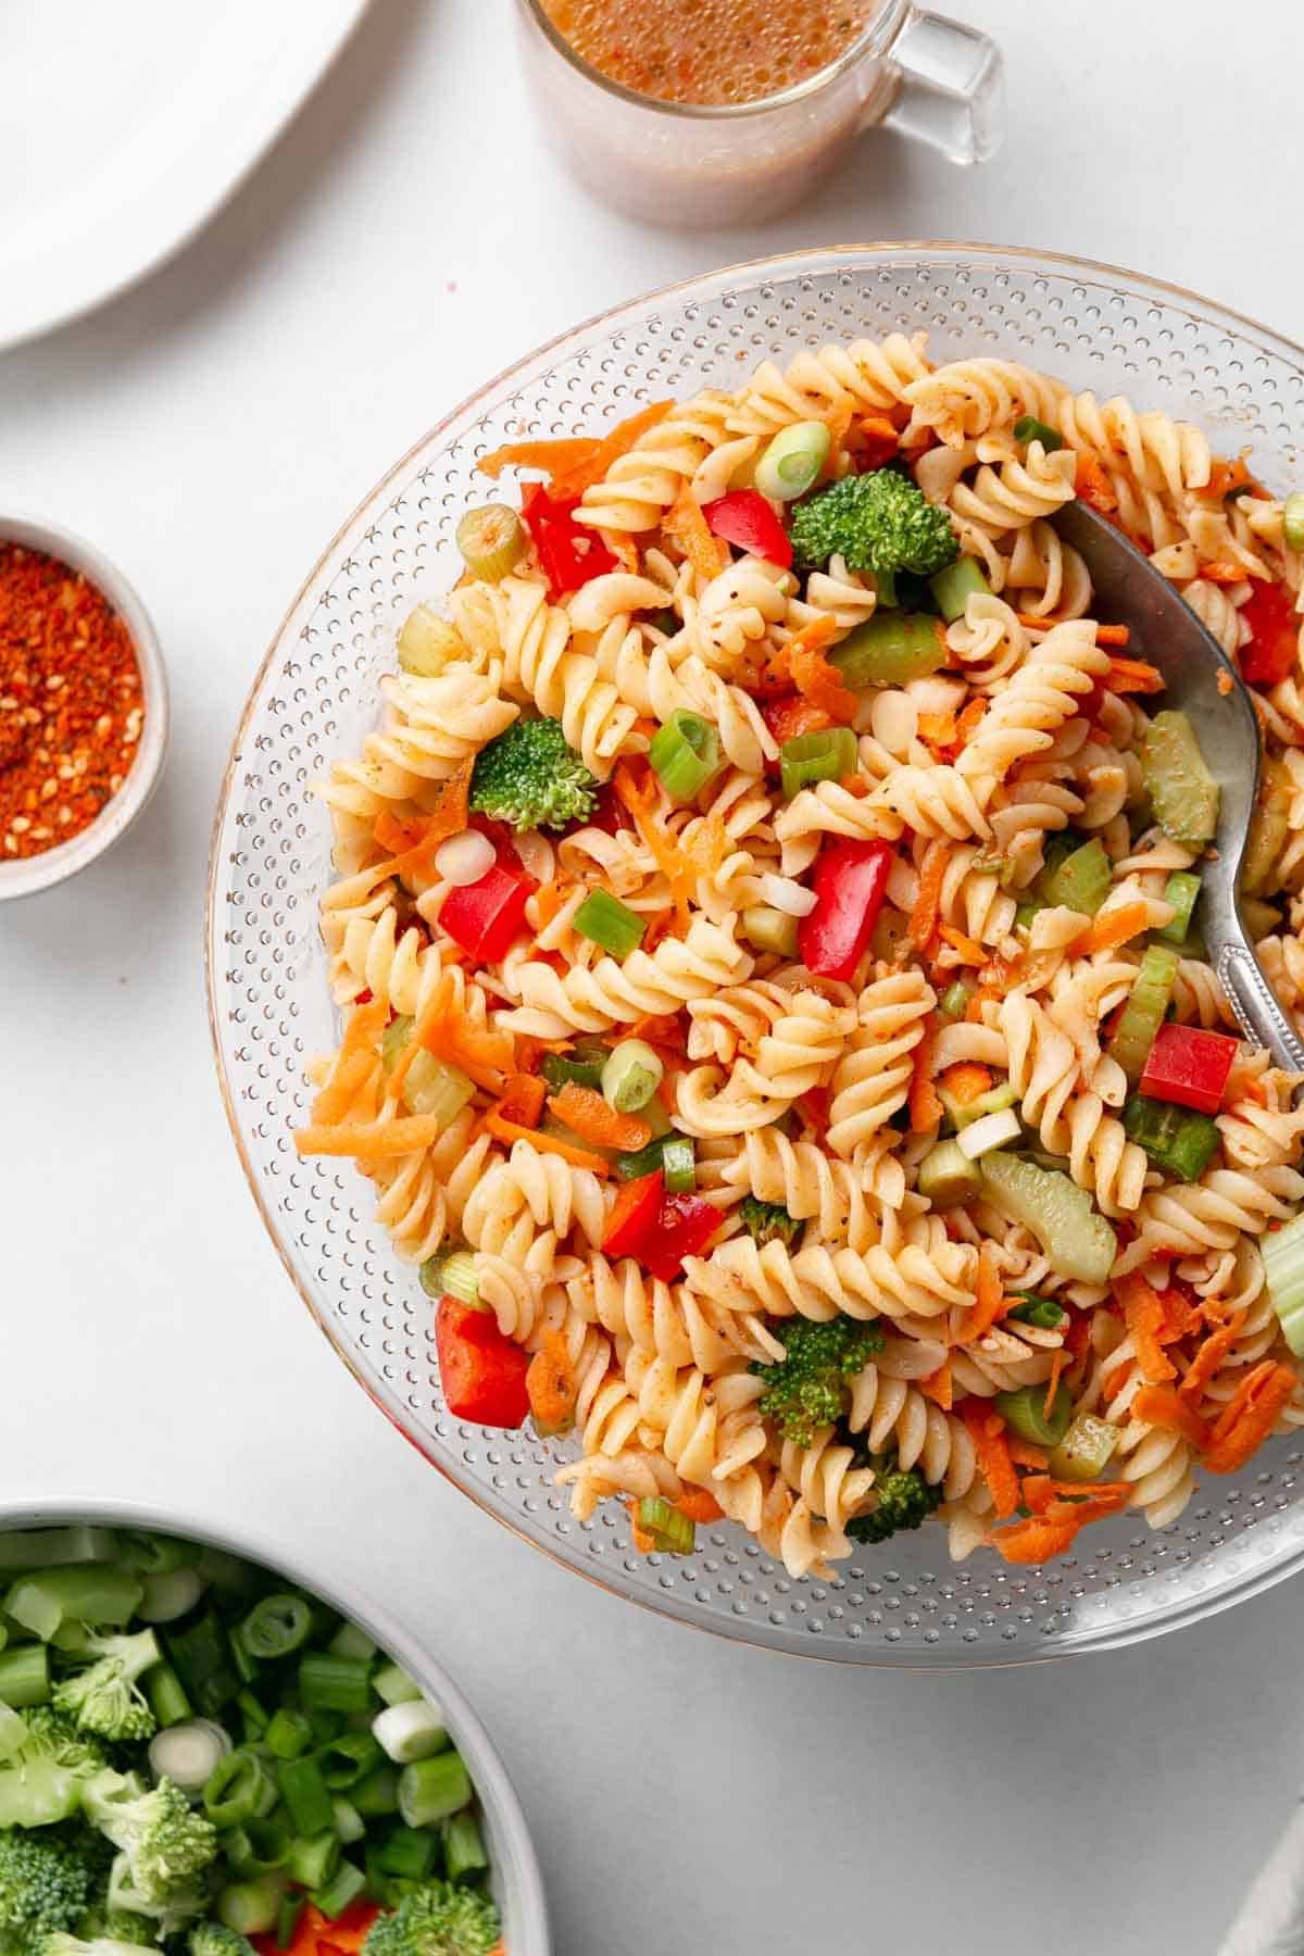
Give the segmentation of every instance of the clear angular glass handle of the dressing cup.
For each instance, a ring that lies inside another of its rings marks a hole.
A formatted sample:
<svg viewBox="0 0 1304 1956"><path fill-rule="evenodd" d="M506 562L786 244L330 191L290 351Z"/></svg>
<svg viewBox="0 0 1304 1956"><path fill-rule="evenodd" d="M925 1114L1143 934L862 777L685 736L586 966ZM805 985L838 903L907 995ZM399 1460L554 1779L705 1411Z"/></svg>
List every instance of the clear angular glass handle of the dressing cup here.
<svg viewBox="0 0 1304 1956"><path fill-rule="evenodd" d="M940 149L950 162L985 162L1005 137L1001 49L985 33L911 8L888 63L897 86L882 127Z"/></svg>

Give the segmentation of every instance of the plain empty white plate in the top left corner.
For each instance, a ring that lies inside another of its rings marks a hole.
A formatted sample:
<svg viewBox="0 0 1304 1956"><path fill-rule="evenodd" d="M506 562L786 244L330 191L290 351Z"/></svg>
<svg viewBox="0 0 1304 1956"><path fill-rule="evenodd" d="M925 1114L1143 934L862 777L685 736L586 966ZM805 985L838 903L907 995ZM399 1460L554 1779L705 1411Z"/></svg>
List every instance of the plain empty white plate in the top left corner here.
<svg viewBox="0 0 1304 1956"><path fill-rule="evenodd" d="M368 0L0 0L0 348L143 278L231 196Z"/></svg>

